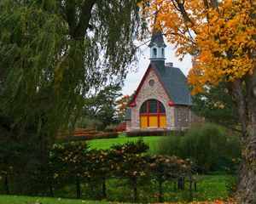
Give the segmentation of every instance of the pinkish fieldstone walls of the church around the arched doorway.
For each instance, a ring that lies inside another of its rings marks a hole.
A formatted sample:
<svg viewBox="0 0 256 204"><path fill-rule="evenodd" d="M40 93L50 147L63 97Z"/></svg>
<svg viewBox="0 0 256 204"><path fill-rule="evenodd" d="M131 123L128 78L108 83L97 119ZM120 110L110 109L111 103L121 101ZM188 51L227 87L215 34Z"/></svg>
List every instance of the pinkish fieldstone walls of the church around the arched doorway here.
<svg viewBox="0 0 256 204"><path fill-rule="evenodd" d="M172 69L172 68L169 68ZM154 86L149 85L149 81L154 80ZM159 78L151 68L148 77L143 82L142 88L137 94L135 100L136 106L131 107L131 122L126 123L126 131L132 131L140 128L140 109L144 101L148 99L158 99L166 108L166 129L184 130L191 127L195 122L201 122L203 119L189 110L187 105L168 105L170 99L166 94Z"/></svg>

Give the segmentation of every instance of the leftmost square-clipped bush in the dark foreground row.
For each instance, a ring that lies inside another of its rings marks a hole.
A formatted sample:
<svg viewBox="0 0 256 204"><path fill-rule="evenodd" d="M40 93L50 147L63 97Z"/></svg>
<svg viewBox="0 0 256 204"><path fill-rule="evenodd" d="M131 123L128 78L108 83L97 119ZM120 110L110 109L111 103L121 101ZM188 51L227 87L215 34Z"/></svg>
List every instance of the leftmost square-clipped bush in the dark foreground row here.
<svg viewBox="0 0 256 204"><path fill-rule="evenodd" d="M80 184L89 177L89 146L82 142L55 144L49 151L49 189L56 184L65 186L75 184L77 197L81 196ZM51 178L51 179L50 179Z"/></svg>

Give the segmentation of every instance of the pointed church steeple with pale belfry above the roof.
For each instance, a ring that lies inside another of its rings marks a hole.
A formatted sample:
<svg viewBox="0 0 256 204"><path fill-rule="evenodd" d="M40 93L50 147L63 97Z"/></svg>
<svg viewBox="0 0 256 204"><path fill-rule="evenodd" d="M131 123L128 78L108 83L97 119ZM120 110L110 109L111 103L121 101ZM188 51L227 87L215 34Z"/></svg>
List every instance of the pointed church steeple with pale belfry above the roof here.
<svg viewBox="0 0 256 204"><path fill-rule="evenodd" d="M150 60L155 61L155 60L161 60L165 61L165 48L166 48L166 43L164 42L164 37L163 33L160 30L160 27L156 27L156 16L155 14L155 19L154 19L154 28L152 31L152 37L151 37L151 42L148 44L148 47L150 48Z"/></svg>

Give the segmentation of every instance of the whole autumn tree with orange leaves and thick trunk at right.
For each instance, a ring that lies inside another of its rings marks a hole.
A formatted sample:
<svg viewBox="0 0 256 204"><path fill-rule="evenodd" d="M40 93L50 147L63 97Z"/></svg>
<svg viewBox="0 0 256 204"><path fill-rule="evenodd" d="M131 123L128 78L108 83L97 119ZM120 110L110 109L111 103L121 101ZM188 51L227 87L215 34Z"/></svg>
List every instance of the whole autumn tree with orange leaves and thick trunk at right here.
<svg viewBox="0 0 256 204"><path fill-rule="evenodd" d="M237 198L256 203L256 64L253 0L164 0L144 4L177 55L193 54L192 93L227 82L241 121L242 159ZM149 7L149 9L148 9Z"/></svg>

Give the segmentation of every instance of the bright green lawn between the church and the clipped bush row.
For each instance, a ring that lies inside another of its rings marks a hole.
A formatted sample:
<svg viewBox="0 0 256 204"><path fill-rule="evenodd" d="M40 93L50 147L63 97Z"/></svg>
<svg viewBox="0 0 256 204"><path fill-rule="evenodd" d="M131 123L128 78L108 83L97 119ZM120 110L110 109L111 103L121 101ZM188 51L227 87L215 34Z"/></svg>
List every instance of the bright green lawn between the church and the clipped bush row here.
<svg viewBox="0 0 256 204"><path fill-rule="evenodd" d="M163 136L143 137L144 142L149 145L150 152L154 152L154 150L157 149L157 142L161 137ZM95 139L90 140L89 144L91 144L91 148L106 150L109 149L112 144L125 144L129 141L136 141L137 139L139 139L139 137L126 138L123 134L120 134L117 139Z"/></svg>

